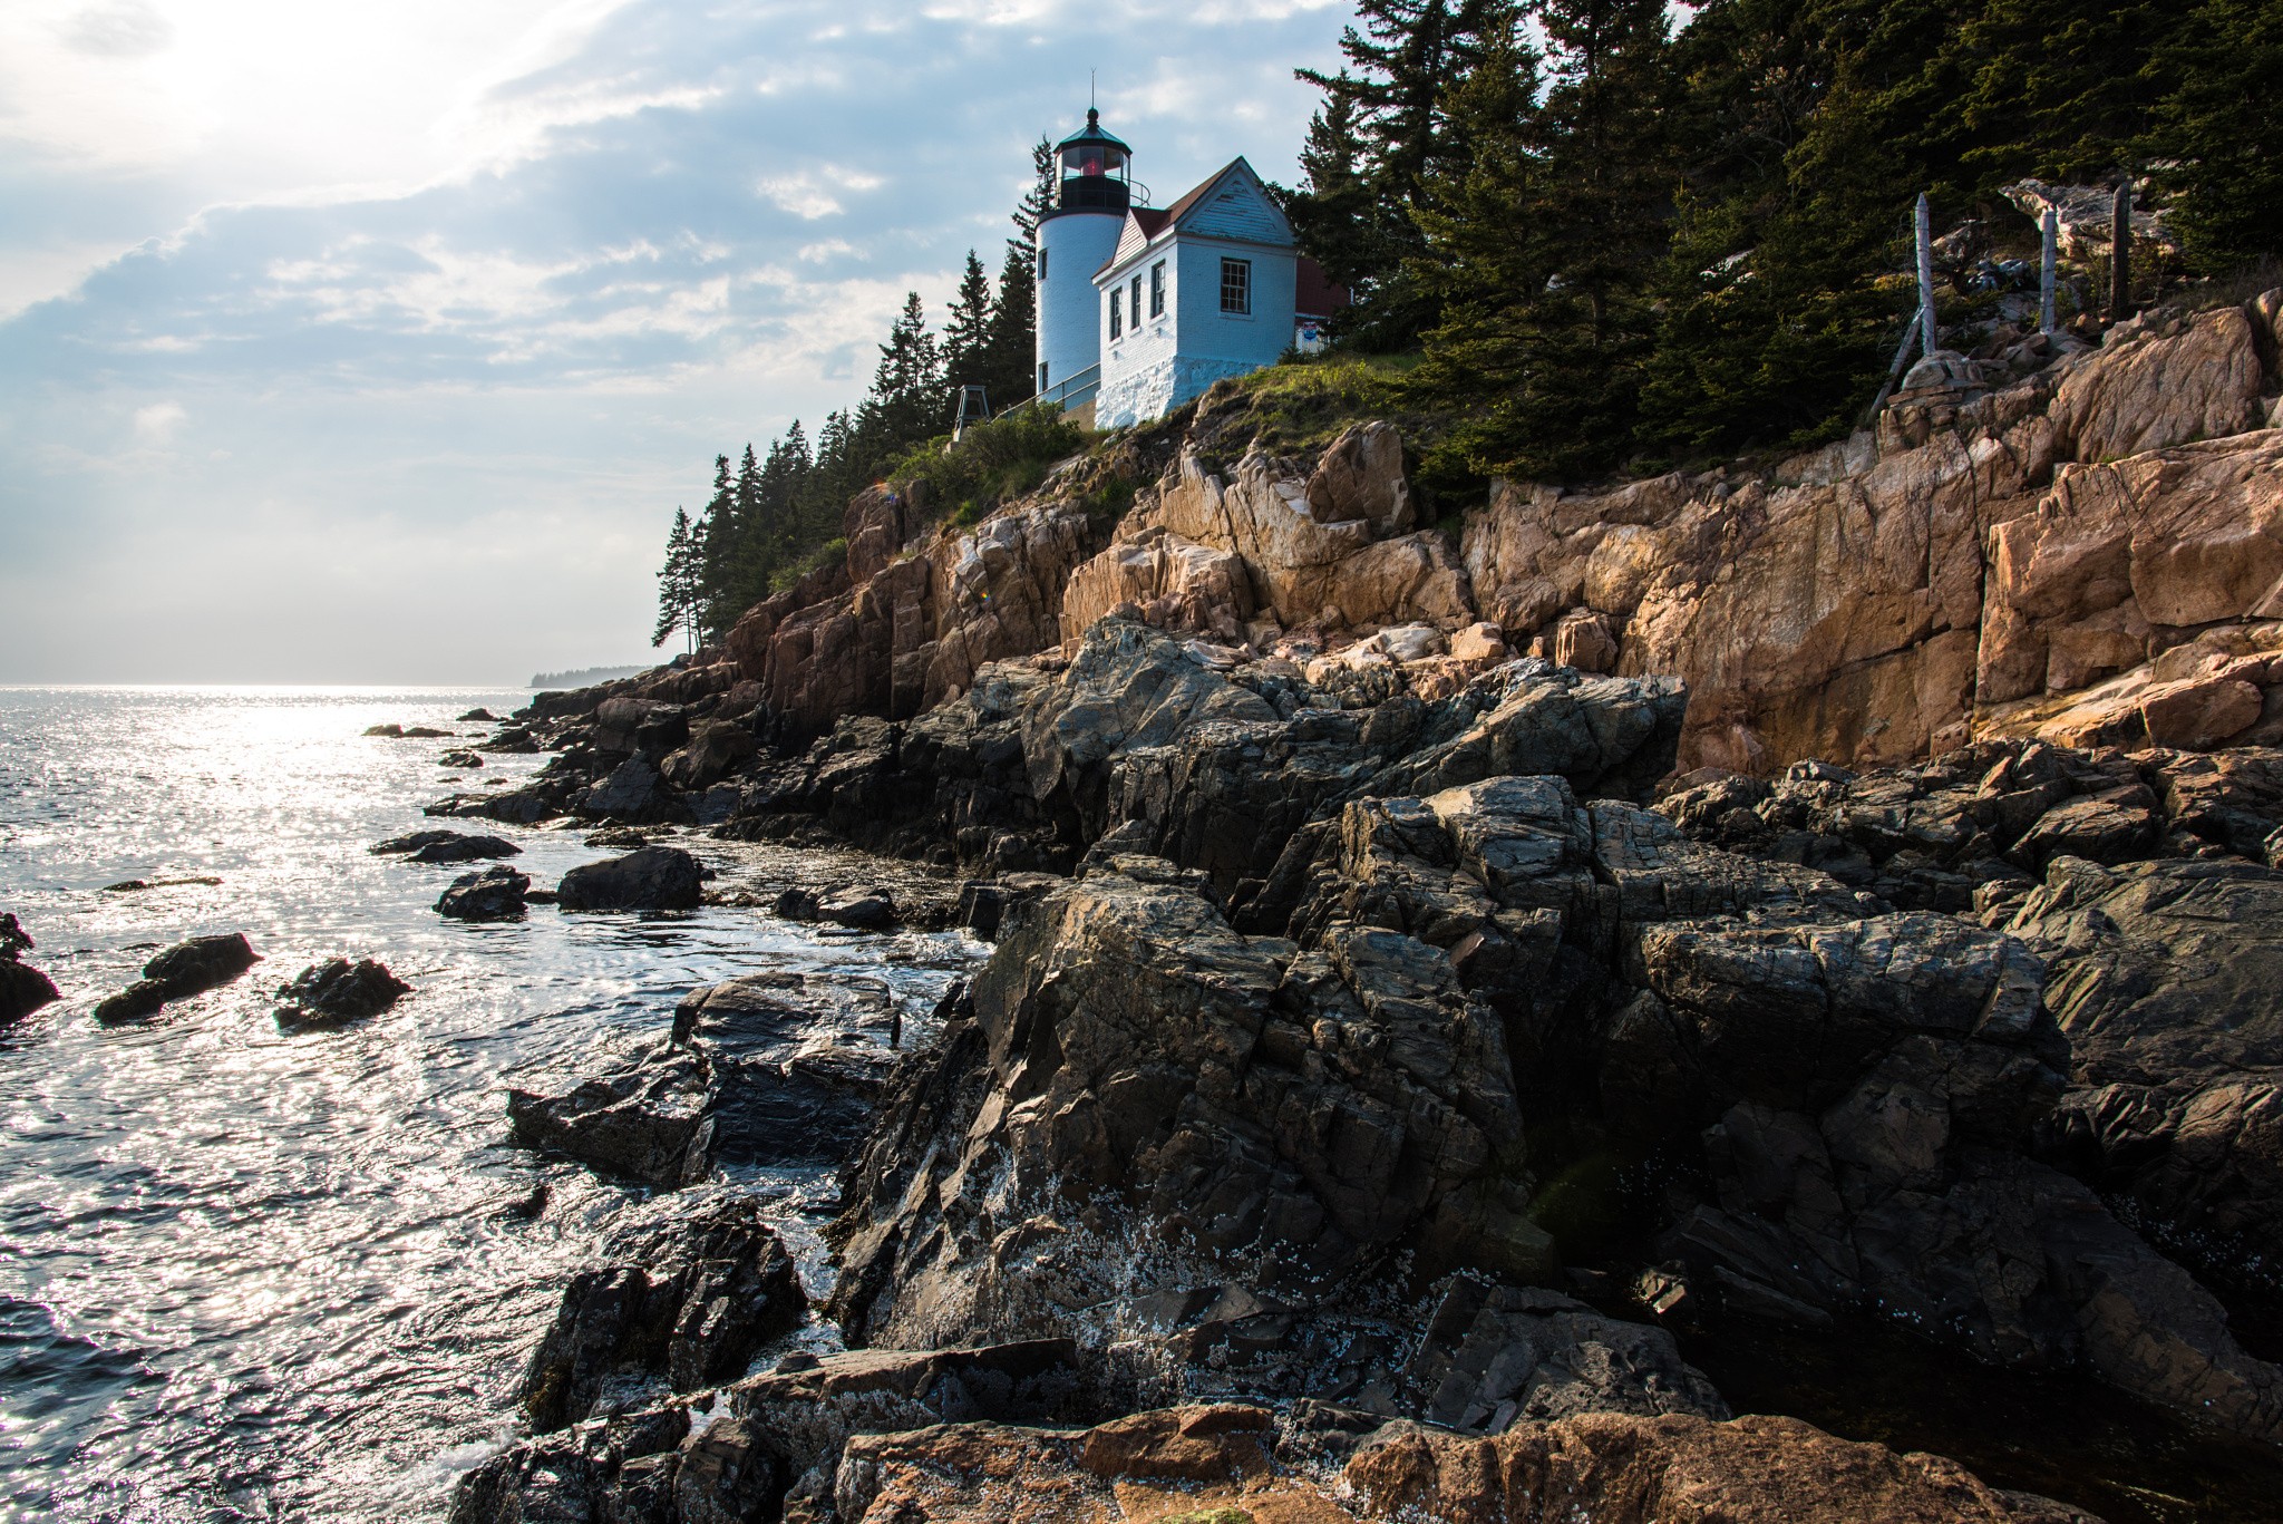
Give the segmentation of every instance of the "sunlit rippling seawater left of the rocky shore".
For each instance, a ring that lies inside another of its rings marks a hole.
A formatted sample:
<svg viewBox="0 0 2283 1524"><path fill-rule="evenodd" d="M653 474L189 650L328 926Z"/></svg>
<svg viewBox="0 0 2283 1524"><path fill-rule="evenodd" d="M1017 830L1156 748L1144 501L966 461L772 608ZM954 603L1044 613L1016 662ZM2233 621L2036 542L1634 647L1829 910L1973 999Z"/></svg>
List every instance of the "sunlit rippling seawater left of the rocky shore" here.
<svg viewBox="0 0 2283 1524"><path fill-rule="evenodd" d="M516 1433L511 1389L564 1277L644 1190L507 1147L502 1092L564 1088L664 1035L676 998L760 969L886 980L906 1033L982 946L826 939L756 909L461 925L461 866L365 848L420 804L541 756L438 754L527 692L0 688L0 909L64 1001L0 1030L0 1519L441 1519ZM384 740L370 724L454 740ZM523 845L534 884L607 852L582 832L452 823ZM849 861L683 836L719 889ZM475 864L482 866L482 864ZM121 880L219 887L114 893ZM162 1017L91 1005L160 946L247 932L263 964ZM416 994L283 1035L276 985L372 955ZM548 1186L537 1220L502 1206ZM820 1282L833 1181L751 1172Z"/></svg>

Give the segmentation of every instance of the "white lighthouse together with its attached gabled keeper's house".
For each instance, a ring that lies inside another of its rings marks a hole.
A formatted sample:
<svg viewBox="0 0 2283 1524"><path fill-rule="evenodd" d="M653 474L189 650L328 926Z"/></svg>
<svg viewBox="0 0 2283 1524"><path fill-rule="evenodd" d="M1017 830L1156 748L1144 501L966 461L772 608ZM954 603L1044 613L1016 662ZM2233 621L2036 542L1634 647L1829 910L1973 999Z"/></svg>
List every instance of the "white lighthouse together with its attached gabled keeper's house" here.
<svg viewBox="0 0 2283 1524"><path fill-rule="evenodd" d="M1087 126L1057 144L1039 217L1039 395L1112 430L1226 375L1322 347L1347 292L1299 254L1253 167L1231 160L1167 208L1144 206L1132 149Z"/></svg>

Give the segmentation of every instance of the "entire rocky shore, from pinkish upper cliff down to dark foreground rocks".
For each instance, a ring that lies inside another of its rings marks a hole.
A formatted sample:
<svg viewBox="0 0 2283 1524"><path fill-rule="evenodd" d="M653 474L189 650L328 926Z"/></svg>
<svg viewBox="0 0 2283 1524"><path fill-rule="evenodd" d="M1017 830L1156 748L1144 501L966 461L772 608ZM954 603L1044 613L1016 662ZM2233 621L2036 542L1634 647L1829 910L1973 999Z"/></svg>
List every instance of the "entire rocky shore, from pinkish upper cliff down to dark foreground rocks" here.
<svg viewBox="0 0 2283 1524"><path fill-rule="evenodd" d="M1457 539L1393 427L1281 457L1219 391L982 523L863 494L724 651L541 699L438 813L961 866L995 951L893 1072L758 973L514 1097L699 1202L838 1163L845 1348L667 1197L454 1519L2091 1519L1733 1417L1712 1330L2274 1467L2278 311Z"/></svg>

